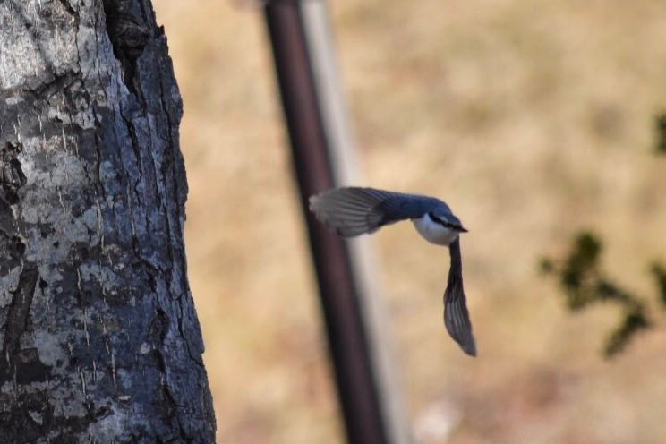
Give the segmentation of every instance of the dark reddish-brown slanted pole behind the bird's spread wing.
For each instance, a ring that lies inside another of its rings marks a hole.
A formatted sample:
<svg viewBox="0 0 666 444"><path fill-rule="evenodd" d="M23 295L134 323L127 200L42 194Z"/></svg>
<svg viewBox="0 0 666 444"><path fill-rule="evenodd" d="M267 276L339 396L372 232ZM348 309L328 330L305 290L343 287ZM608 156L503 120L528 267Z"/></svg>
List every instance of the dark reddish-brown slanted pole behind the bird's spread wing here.
<svg viewBox="0 0 666 444"><path fill-rule="evenodd" d="M295 174L317 273L337 393L350 443L388 442L366 327L346 244L308 210L308 198L335 185L298 0L265 7Z"/></svg>

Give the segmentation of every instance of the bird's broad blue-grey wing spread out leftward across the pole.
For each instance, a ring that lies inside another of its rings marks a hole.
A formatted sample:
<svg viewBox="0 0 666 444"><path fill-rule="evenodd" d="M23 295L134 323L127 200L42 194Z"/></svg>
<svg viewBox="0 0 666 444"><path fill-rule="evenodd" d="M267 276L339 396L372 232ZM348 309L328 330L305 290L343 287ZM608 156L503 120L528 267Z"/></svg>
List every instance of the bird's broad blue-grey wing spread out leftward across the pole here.
<svg viewBox="0 0 666 444"><path fill-rule="evenodd" d="M374 188L343 187L310 198L310 209L338 235L373 233L398 220L421 218L432 198Z"/></svg>

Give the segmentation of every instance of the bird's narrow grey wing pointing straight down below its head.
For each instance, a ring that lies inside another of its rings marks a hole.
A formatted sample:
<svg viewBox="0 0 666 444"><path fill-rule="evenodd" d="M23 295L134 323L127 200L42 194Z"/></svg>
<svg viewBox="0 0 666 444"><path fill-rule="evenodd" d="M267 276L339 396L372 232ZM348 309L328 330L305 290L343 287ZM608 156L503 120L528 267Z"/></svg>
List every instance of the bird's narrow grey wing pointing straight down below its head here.
<svg viewBox="0 0 666 444"><path fill-rule="evenodd" d="M463 266L460 255L460 239L453 241L448 249L451 253L451 268L448 269L448 284L444 291L444 325L448 334L470 356L476 356L476 343L469 320L465 289L463 288Z"/></svg>

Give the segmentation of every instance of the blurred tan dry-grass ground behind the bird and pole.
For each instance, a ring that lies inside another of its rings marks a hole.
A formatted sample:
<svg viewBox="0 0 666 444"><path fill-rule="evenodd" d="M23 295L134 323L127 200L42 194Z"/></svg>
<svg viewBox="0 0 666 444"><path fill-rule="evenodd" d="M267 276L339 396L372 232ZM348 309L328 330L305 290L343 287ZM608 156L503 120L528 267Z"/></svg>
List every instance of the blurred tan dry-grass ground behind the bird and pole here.
<svg viewBox="0 0 666 444"><path fill-rule="evenodd" d="M260 9L154 0L184 98L192 291L219 442L343 437ZM666 331L600 353L614 307L571 316L538 273L579 229L653 293L666 259L662 1L335 0L365 185L448 201L470 229L470 359L441 320L448 252L374 236L418 442L642 443L666 436Z"/></svg>

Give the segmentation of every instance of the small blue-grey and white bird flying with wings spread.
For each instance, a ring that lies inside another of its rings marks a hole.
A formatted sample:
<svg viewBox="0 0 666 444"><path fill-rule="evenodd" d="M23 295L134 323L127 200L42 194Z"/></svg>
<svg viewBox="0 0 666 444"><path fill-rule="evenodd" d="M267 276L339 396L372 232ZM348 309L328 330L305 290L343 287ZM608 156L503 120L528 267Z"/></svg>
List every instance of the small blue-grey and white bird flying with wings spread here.
<svg viewBox="0 0 666 444"><path fill-rule="evenodd" d="M444 325L466 354L476 355L472 322L465 302L460 254L459 235L467 230L445 202L419 194L354 186L312 196L310 209L320 222L343 237L374 233L382 226L411 219L416 231L425 240L448 246L451 264L444 291Z"/></svg>

